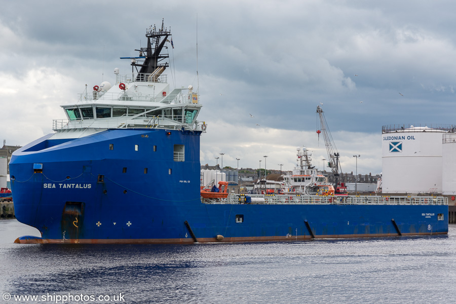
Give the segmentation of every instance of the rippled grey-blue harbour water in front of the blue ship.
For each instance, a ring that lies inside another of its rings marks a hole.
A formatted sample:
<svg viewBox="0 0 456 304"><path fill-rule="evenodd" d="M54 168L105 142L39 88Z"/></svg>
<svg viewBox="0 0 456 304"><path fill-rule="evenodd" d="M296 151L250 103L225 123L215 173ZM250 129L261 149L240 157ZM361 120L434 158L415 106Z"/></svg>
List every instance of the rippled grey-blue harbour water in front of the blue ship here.
<svg viewBox="0 0 456 304"><path fill-rule="evenodd" d="M119 303L452 303L456 296L456 225L440 236L290 243L13 243L34 232L0 220L2 294L122 293Z"/></svg>

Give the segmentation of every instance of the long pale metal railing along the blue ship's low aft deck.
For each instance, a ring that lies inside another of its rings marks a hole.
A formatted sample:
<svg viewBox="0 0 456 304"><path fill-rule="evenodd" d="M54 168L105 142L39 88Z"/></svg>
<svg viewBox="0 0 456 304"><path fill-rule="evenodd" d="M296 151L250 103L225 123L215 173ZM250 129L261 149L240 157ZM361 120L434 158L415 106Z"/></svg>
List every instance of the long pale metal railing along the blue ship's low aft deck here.
<svg viewBox="0 0 456 304"><path fill-rule="evenodd" d="M221 203L266 205L448 205L444 197L388 197L388 196L319 196L319 195L239 195L230 194ZM220 203L220 202L218 202Z"/></svg>

